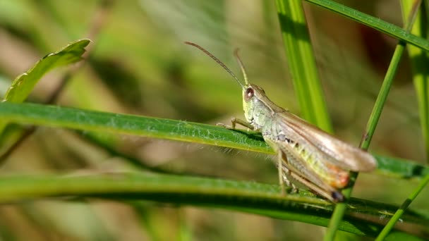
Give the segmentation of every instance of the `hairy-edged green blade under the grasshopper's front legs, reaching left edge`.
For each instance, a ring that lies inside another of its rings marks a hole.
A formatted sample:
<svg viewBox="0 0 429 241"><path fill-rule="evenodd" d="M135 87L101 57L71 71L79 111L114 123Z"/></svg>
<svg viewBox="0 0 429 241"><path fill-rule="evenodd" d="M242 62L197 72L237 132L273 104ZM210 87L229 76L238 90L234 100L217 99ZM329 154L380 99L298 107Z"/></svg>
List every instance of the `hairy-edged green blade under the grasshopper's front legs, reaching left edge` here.
<svg viewBox="0 0 429 241"><path fill-rule="evenodd" d="M117 113L71 109L30 103L0 103L2 121L75 130L139 135L182 142L211 144L243 149L250 152L274 154L260 133L228 130L215 125L163 118L132 116ZM377 172L391 178L418 180L429 174L427 166L404 159L375 156Z"/></svg>

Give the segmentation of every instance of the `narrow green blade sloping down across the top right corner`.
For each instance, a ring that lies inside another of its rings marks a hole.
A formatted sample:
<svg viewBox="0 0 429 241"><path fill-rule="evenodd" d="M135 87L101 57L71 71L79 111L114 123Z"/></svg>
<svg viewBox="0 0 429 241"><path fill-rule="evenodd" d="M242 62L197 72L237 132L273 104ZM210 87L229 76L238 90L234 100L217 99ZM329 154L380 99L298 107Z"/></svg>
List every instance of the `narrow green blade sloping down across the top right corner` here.
<svg viewBox="0 0 429 241"><path fill-rule="evenodd" d="M406 30L393 25L392 23L387 23L380 18L375 18L373 16L369 16L368 14L362 13L360 11L356 11L353 8L349 8L342 4L338 4L334 1L330 0L306 0L311 4L315 4L317 6L321 6L322 8L326 8L335 13L339 13L342 16L346 16L347 18L351 18L358 23L363 23L364 25L368 25L369 27L373 27L375 30L380 32L384 32L387 35L390 35L396 39L399 39L408 44L412 44L416 47L420 47L421 49L425 49L429 51L429 41L423 39L421 37L417 37L416 35L411 35Z"/></svg>

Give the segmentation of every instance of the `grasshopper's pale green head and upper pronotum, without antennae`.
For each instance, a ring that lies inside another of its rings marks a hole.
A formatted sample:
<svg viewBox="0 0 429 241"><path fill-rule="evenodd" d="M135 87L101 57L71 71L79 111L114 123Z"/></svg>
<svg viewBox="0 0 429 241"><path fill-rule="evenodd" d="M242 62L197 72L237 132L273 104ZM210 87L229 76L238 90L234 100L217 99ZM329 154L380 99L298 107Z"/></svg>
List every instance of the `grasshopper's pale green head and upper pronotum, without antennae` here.
<svg viewBox="0 0 429 241"><path fill-rule="evenodd" d="M285 111L267 98L264 89L252 84L243 90L243 110L246 121L253 125L255 130L270 125L274 113Z"/></svg>

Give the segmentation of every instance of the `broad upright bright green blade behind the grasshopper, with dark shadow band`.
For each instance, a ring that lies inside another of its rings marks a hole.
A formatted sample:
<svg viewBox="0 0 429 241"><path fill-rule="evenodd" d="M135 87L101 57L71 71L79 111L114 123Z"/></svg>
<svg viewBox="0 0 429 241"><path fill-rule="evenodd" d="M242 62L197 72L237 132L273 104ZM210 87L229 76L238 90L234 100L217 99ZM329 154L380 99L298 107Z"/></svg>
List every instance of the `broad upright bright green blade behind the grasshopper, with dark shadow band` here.
<svg viewBox="0 0 429 241"><path fill-rule="evenodd" d="M302 117L332 132L301 0L277 0L276 5Z"/></svg>

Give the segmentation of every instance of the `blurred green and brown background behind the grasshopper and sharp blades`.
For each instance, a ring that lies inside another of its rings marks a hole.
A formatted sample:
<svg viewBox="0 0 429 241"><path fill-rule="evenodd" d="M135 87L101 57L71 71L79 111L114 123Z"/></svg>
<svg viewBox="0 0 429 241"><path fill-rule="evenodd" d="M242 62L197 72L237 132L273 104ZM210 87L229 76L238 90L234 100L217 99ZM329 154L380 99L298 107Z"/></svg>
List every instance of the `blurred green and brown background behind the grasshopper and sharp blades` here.
<svg viewBox="0 0 429 241"><path fill-rule="evenodd" d="M401 26L397 1L339 1ZM322 8L306 9L335 135L357 145L397 40ZM196 42L239 74L241 49L250 81L299 115L273 1L0 1L0 93L42 56L90 37L85 66L56 104L114 113L229 123L243 118L236 82L184 41ZM65 70L37 85L28 101L43 102ZM96 141L97 140L97 141ZM277 183L271 156L132 136L38 128L2 173L97 172L129 168L99 142L143 166L169 173ZM411 70L404 56L370 152L424 163ZM354 196L400 204L417 182L359 175ZM423 193L411 208L425 209ZM427 210L427 209L426 209ZM219 209L142 202L23 202L0 206L4 240L319 240L325 228ZM342 233L342 238L352 238Z"/></svg>

